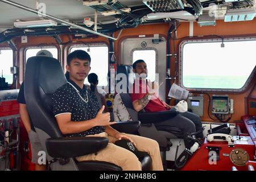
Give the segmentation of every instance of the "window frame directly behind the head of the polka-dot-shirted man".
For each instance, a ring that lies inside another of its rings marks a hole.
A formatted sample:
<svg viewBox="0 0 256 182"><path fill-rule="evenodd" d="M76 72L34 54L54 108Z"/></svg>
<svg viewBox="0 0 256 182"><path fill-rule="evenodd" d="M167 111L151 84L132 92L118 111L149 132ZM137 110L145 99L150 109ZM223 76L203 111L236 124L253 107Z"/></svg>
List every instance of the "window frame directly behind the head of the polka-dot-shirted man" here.
<svg viewBox="0 0 256 182"><path fill-rule="evenodd" d="M72 48L79 48L79 47L108 47L108 73L109 73L109 45L106 44L106 43L103 43L103 42L100 42L100 43L84 43L84 44L73 44L71 46L68 47L68 55L69 53L71 52L71 49ZM66 59L67 61L67 59ZM67 62L65 63L67 64ZM66 68L64 67L64 72L66 72ZM99 86L100 88L103 88L103 87L106 87L108 86L109 84L107 85L97 85Z"/></svg>

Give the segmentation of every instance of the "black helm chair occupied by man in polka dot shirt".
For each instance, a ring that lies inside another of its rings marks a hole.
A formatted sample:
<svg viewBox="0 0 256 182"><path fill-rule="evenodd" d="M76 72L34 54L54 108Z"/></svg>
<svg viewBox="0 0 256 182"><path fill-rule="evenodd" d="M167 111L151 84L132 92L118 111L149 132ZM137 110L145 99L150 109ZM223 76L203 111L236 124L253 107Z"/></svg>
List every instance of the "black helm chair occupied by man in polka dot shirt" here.
<svg viewBox="0 0 256 182"><path fill-rule="evenodd" d="M76 156L97 152L106 147L109 141L104 137L63 137L52 114L51 94L65 83L67 80L58 60L42 56L28 59L24 78L25 100L31 121L46 151L49 166L52 170L122 170L107 162L76 161ZM129 124L132 133L133 129L137 130L139 122L122 124ZM143 170L150 169L149 155L139 160Z"/></svg>

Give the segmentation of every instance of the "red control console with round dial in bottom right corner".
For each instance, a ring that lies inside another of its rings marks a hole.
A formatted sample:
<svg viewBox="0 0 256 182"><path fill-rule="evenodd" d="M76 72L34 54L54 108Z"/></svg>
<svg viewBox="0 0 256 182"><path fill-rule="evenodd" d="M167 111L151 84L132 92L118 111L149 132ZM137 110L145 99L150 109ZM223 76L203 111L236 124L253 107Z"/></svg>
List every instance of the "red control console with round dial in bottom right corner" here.
<svg viewBox="0 0 256 182"><path fill-rule="evenodd" d="M226 141L209 142L206 138L182 168L183 171L247 171L246 162L254 160L255 146L250 137L234 136L234 146ZM215 156L215 157L214 157Z"/></svg>

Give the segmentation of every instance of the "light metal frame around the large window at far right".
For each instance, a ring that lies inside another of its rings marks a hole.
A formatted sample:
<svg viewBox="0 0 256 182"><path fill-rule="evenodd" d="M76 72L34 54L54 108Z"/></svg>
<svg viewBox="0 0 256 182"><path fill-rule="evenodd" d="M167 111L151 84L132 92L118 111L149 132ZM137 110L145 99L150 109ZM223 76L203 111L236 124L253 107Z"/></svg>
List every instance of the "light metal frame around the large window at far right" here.
<svg viewBox="0 0 256 182"><path fill-rule="evenodd" d="M208 92L243 92L249 86L251 80L254 77L254 73L256 72L256 67L254 67L253 71L250 73L249 77L247 78L245 84L240 89L221 89L221 88L187 88L183 85L183 48L186 44L190 43L222 43L225 42L242 42L242 41L251 41L255 40L256 37L241 37L241 38L207 38L207 39L185 39L179 44L179 57L180 57L180 65L179 65L179 82L180 86L184 89L188 90L196 90L196 91L208 91Z"/></svg>

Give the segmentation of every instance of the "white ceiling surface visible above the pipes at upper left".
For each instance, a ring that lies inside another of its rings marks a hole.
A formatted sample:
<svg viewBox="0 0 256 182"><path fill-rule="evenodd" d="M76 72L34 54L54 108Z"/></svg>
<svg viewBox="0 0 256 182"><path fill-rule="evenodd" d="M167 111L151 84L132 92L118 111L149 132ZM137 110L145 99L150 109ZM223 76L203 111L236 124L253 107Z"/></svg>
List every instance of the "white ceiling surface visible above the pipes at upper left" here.
<svg viewBox="0 0 256 182"><path fill-rule="evenodd" d="M13 2L35 9L35 0L13 0ZM60 19L82 21L86 15L94 14L94 9L82 5L82 2L77 0L40 0L39 2L46 4L47 14L56 16ZM120 0L119 2L127 6L143 4L141 0ZM19 9L18 7L14 7L3 2L0 2L0 17L0 28L13 26L13 22L15 22L16 19L40 19L39 16L34 13Z"/></svg>

